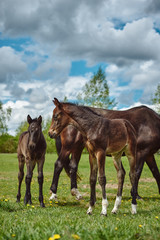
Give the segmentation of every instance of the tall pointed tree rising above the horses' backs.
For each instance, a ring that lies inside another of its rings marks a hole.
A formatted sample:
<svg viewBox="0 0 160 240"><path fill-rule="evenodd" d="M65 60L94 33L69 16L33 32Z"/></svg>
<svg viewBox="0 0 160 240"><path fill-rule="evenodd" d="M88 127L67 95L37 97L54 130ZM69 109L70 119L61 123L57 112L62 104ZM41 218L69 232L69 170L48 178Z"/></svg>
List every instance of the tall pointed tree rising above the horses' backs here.
<svg viewBox="0 0 160 240"><path fill-rule="evenodd" d="M117 104L115 99L111 100L109 97L106 75L101 67L99 67L91 80L84 85L82 91L77 95L77 99L92 107L112 109Z"/></svg>

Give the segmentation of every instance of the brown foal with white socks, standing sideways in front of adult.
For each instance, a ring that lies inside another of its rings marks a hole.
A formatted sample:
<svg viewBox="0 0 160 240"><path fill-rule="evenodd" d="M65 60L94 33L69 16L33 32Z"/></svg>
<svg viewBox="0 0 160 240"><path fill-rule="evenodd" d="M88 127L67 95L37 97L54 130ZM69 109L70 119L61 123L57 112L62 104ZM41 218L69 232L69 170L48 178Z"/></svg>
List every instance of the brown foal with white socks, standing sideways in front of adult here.
<svg viewBox="0 0 160 240"><path fill-rule="evenodd" d="M109 120L96 114L90 108L70 103L60 103L54 99L56 108L53 111L53 124L50 134L57 137L68 125L76 127L85 139L90 160L90 206L87 213L92 213L95 204L95 186L98 180L102 188L102 215L107 215L108 201L106 197L105 157L111 154L117 170L118 192L112 213L118 211L121 204L124 182L124 169L121 163L123 152L130 164L130 179L132 183L132 213L136 213L136 133L129 121L124 119Z"/></svg>

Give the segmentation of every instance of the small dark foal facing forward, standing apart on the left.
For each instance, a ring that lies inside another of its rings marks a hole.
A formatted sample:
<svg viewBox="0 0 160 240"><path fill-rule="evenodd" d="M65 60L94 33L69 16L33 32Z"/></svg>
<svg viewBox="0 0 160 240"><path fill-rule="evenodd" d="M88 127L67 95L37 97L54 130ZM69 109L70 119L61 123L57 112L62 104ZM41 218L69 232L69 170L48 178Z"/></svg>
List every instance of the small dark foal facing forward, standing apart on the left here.
<svg viewBox="0 0 160 240"><path fill-rule="evenodd" d="M18 143L18 162L19 162L19 173L18 173L18 194L17 202L20 202L21 198L21 183L24 177L24 164L26 163L26 194L24 203L32 204L30 185L33 175L33 170L37 163L38 165L38 183L39 183L39 202L41 207L45 207L43 202L43 164L45 161L46 152L46 141L42 133L42 117L38 119L32 119L29 115L27 116L29 123L28 131L23 132L20 135Z"/></svg>

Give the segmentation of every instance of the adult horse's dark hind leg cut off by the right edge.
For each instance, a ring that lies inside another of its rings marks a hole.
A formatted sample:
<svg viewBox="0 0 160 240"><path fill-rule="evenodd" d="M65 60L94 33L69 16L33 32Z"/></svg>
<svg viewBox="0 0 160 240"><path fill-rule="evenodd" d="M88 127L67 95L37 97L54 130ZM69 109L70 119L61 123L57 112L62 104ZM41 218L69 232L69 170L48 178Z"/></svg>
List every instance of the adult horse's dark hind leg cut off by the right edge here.
<svg viewBox="0 0 160 240"><path fill-rule="evenodd" d="M155 178L157 185L158 185L158 190L159 190L159 194L160 194L160 173L154 158L154 155L148 156L146 158L146 163L149 167L149 169L151 170L153 177Z"/></svg>

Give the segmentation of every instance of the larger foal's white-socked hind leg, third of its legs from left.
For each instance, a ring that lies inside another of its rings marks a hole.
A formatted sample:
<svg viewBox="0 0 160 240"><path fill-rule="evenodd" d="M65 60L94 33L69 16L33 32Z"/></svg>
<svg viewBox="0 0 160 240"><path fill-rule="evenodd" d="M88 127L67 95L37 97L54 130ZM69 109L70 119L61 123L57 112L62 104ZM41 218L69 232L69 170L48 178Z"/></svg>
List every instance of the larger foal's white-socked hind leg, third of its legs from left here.
<svg viewBox="0 0 160 240"><path fill-rule="evenodd" d="M123 191L123 184L124 184L124 178L125 178L125 170L123 168L122 162L121 162L121 156L122 153L118 153L117 155L113 155L113 163L117 170L117 179L118 179L118 191L117 191L117 197L114 203L114 208L112 209L112 213L116 214L118 212L118 209L121 205L122 200L122 191Z"/></svg>

